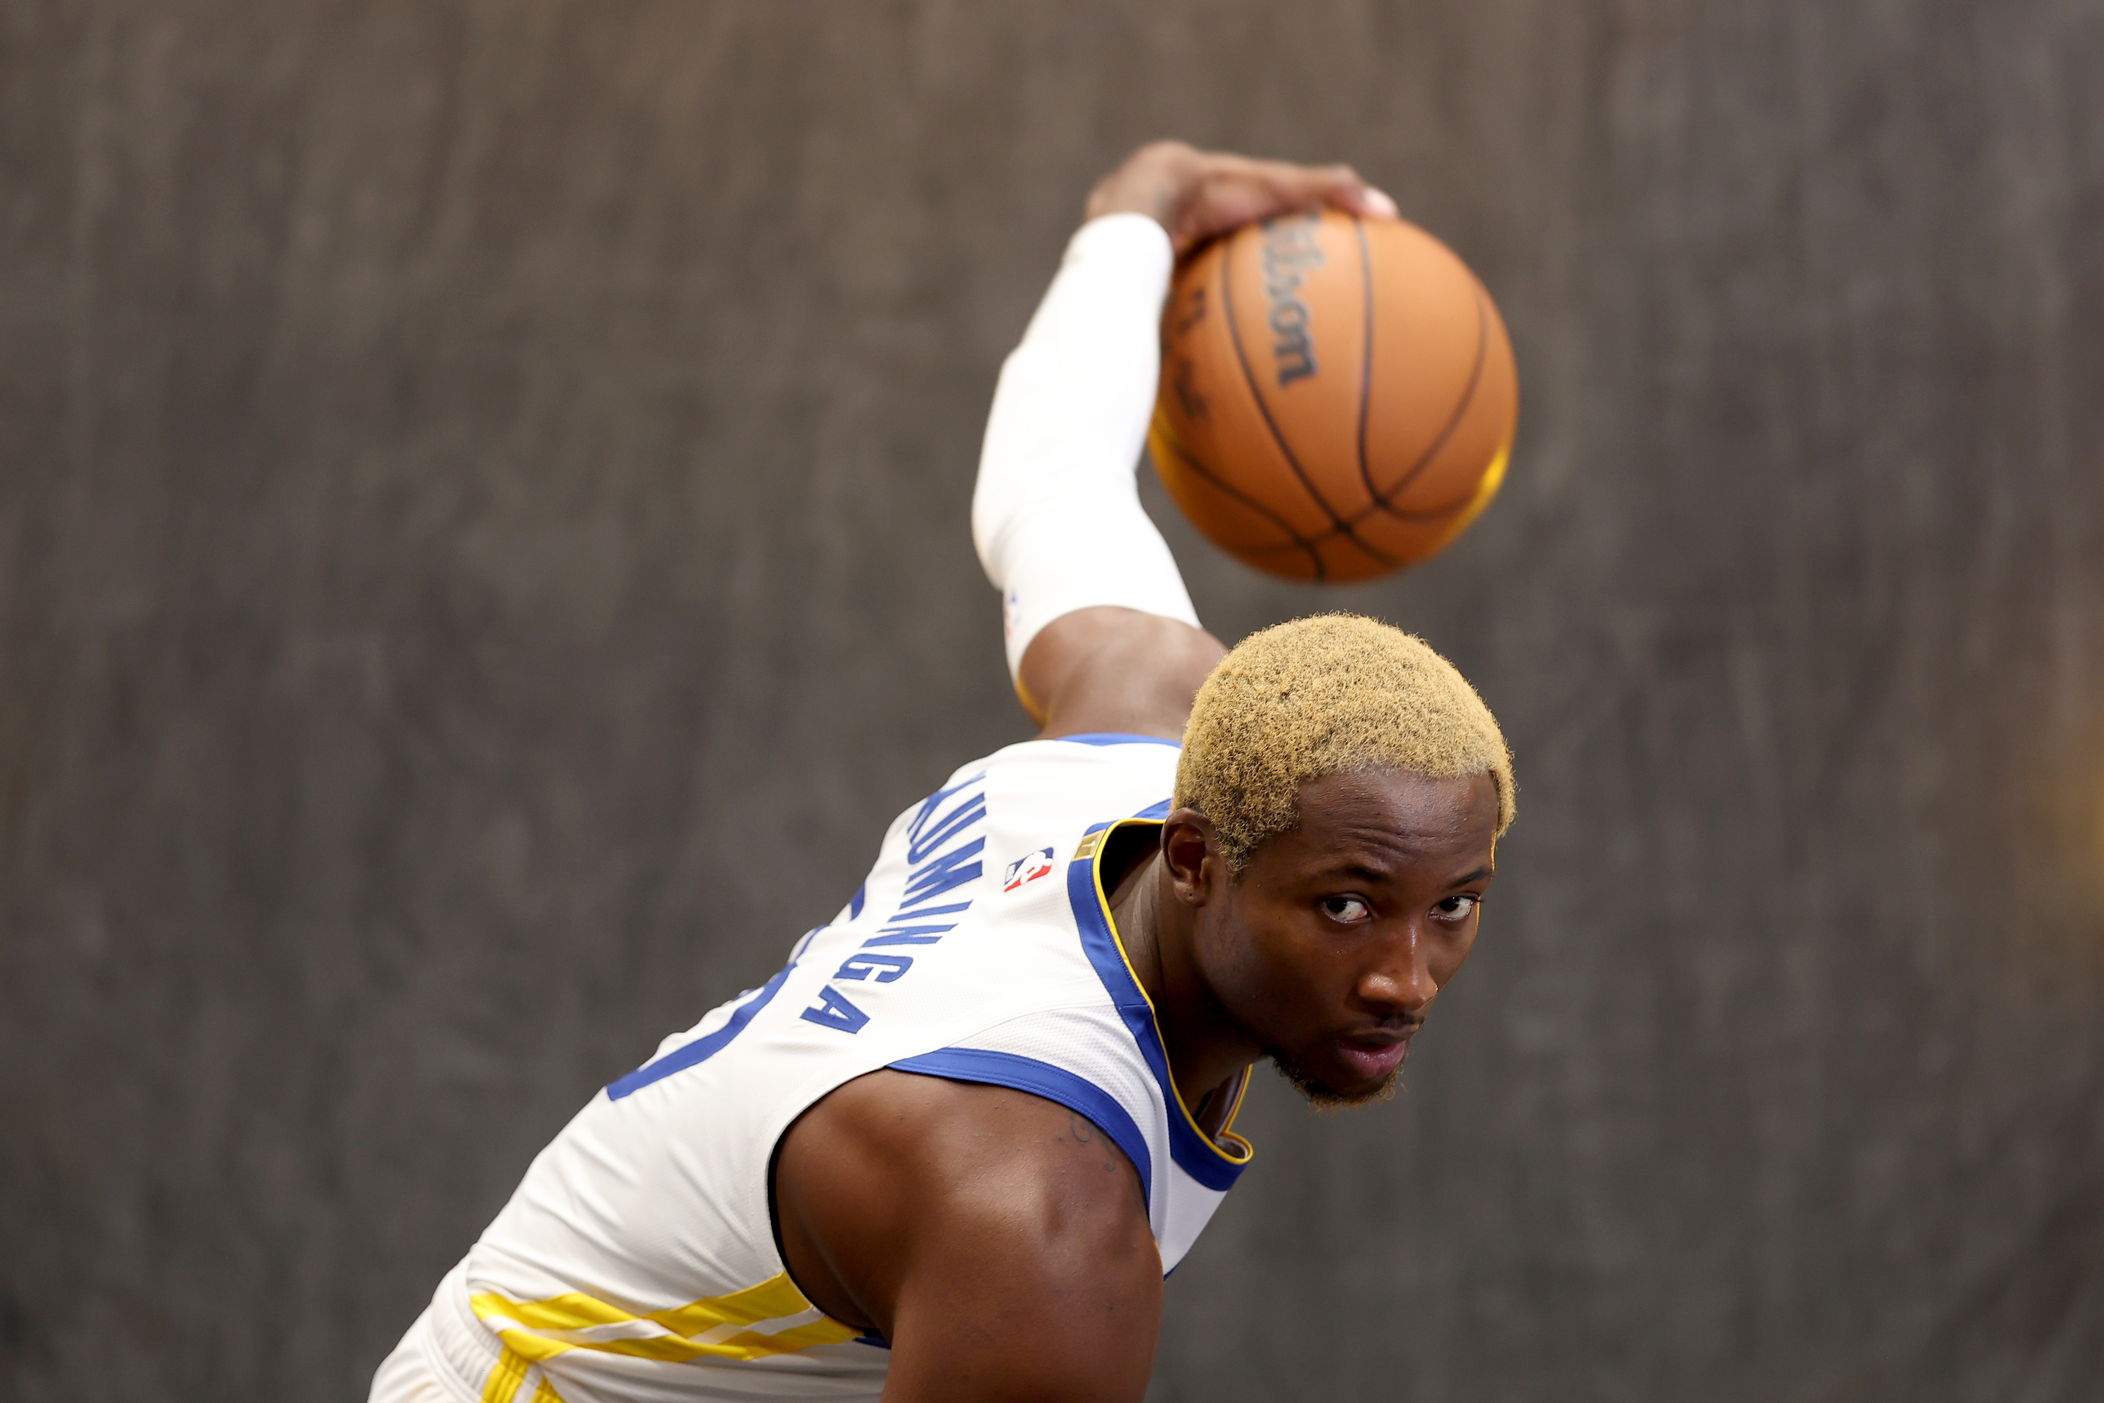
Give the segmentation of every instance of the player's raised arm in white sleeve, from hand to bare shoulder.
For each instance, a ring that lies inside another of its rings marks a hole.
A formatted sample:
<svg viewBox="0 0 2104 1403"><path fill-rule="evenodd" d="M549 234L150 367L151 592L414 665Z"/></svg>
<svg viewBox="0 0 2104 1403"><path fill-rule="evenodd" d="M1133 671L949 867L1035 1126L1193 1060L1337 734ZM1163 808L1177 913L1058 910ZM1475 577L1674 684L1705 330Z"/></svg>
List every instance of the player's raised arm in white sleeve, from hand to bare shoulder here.
<svg viewBox="0 0 2104 1403"><path fill-rule="evenodd" d="M1347 166L1292 166L1159 141L1088 198L1052 288L1008 355L987 419L972 541L1002 591L1008 673L1046 736L1182 736L1220 658L1134 465L1161 370L1176 257L1254 219L1395 204Z"/></svg>

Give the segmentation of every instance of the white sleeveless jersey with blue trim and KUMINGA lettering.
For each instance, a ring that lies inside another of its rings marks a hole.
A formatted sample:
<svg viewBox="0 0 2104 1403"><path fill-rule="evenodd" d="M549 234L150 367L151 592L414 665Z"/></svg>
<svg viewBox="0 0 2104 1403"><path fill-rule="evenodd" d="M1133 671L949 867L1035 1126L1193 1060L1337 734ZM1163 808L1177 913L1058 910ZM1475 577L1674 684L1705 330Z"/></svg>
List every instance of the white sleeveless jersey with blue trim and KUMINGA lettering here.
<svg viewBox="0 0 2104 1403"><path fill-rule="evenodd" d="M1176 753L1029 740L901 814L854 900L781 974L667 1039L541 1151L398 1359L421 1353L461 1403L875 1399L890 1350L791 1283L768 1170L797 1115L886 1066L1094 1121L1138 1170L1172 1270L1250 1146L1206 1136L1176 1094L1094 854L1113 825L1168 812Z"/></svg>

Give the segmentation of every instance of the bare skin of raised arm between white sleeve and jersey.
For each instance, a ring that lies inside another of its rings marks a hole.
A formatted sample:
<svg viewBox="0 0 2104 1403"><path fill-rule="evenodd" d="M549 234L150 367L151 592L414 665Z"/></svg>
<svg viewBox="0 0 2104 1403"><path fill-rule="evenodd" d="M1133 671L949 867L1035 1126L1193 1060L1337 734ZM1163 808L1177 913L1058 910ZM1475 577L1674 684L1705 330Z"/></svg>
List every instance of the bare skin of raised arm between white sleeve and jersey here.
<svg viewBox="0 0 2104 1403"><path fill-rule="evenodd" d="M1023 654L1018 682L1048 738L1178 740L1199 684L1225 654L1220 639L1178 618L1098 606L1048 623Z"/></svg>

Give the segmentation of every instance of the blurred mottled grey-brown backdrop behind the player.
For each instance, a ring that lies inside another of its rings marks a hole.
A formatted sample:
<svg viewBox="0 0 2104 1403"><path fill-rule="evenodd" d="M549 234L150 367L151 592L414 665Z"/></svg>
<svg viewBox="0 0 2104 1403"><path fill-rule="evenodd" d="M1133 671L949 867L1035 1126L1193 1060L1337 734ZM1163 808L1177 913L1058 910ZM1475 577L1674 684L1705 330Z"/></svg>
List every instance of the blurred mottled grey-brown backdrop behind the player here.
<svg viewBox="0 0 2104 1403"><path fill-rule="evenodd" d="M1500 299L1431 568L1149 501L1523 797L1408 1094L1260 1083L1155 1397L2104 1397L2100 72L2093 0L0 6L0 1395L362 1399L1025 734L980 414L1180 133Z"/></svg>

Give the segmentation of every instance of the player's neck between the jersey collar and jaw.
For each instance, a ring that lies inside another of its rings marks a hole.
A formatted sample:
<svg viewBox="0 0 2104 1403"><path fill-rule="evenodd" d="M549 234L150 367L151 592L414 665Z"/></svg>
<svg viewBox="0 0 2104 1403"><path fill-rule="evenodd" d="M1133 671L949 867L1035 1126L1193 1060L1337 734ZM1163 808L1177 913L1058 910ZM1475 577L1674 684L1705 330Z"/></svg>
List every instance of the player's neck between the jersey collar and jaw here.
<svg viewBox="0 0 2104 1403"><path fill-rule="evenodd" d="M1111 892L1111 919L1140 989L1155 1005L1155 1024L1170 1056L1170 1075L1197 1113L1262 1048L1214 997L1197 963L1197 909L1176 900L1159 852L1136 862Z"/></svg>

